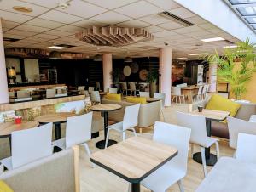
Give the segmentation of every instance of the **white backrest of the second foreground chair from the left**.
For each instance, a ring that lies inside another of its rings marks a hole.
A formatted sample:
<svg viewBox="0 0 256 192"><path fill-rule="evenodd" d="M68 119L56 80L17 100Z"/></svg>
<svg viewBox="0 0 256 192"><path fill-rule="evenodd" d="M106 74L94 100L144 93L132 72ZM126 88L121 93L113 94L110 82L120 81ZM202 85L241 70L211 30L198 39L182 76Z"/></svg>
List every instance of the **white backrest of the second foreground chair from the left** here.
<svg viewBox="0 0 256 192"><path fill-rule="evenodd" d="M75 144L82 144L91 138L92 112L67 117L66 147L70 148Z"/></svg>

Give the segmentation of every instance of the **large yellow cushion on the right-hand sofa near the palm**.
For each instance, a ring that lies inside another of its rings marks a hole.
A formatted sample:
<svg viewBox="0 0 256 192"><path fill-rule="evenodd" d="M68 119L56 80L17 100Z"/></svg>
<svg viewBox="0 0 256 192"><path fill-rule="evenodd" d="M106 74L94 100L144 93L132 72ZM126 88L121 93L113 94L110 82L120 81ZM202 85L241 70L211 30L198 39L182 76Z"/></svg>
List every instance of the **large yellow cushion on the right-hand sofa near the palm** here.
<svg viewBox="0 0 256 192"><path fill-rule="evenodd" d="M237 104L230 99L226 99L218 94L213 94L209 102L207 103L207 110L224 110L229 111L230 116L236 116L237 110L239 110L241 104Z"/></svg>

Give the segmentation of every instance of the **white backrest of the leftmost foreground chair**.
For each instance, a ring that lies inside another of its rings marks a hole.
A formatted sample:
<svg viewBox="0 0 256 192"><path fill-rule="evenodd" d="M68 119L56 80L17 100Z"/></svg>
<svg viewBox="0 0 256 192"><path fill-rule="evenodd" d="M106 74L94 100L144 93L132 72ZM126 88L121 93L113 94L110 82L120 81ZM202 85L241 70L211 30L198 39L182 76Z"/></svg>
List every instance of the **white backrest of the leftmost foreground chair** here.
<svg viewBox="0 0 256 192"><path fill-rule="evenodd" d="M12 133L12 164L20 167L52 155L52 123Z"/></svg>

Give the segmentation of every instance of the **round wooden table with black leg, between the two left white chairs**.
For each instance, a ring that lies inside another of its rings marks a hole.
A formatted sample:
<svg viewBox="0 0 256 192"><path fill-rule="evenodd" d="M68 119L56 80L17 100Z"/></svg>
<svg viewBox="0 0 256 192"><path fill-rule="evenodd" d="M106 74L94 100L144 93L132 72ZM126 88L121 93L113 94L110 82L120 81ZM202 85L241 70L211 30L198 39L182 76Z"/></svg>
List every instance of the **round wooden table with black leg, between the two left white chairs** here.
<svg viewBox="0 0 256 192"><path fill-rule="evenodd" d="M40 124L46 124L52 122L55 125L55 139L58 140L61 138L61 123L67 121L67 117L76 116L74 113L54 113L47 114L44 116L37 116L35 121L38 121Z"/></svg>

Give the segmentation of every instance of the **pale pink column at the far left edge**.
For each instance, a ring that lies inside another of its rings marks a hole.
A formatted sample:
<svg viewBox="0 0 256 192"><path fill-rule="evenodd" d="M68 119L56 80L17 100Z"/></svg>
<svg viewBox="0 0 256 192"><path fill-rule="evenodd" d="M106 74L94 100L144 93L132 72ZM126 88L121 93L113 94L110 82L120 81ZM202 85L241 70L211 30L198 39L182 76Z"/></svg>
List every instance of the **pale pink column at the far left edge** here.
<svg viewBox="0 0 256 192"><path fill-rule="evenodd" d="M9 103L8 82L3 48L2 21L0 18L0 104Z"/></svg>

